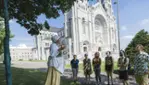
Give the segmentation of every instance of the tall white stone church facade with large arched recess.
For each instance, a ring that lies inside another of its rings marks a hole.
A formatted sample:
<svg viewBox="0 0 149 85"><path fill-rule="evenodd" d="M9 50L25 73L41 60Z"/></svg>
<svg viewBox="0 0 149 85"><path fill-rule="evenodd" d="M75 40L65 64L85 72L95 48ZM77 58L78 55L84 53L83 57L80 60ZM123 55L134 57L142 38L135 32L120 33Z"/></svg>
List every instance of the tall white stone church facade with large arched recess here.
<svg viewBox="0 0 149 85"><path fill-rule="evenodd" d="M76 1L65 13L64 32L70 59L73 54L81 59L85 53L93 58L97 51L102 58L105 58L106 51L118 58L118 30L111 0L97 0L94 5L89 5L88 0Z"/></svg>

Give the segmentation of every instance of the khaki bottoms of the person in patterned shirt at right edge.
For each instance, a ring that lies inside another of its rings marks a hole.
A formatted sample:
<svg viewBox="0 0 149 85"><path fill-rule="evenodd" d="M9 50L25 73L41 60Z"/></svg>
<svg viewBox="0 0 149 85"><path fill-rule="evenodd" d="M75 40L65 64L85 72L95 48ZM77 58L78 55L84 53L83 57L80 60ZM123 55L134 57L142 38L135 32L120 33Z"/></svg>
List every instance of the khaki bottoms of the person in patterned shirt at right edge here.
<svg viewBox="0 0 149 85"><path fill-rule="evenodd" d="M139 85L148 85L148 83L149 83L148 74L146 74L146 75L135 75L135 79Z"/></svg>

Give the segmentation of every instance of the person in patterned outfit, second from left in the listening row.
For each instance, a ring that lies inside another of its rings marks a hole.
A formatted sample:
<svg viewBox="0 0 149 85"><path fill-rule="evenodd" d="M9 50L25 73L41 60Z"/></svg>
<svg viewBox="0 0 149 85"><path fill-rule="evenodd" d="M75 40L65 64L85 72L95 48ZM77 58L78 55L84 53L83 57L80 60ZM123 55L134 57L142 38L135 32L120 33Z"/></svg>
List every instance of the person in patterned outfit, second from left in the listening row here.
<svg viewBox="0 0 149 85"><path fill-rule="evenodd" d="M83 70L86 79L86 84L90 84L90 75L92 74L91 60L88 58L88 55L85 54L85 59L83 60Z"/></svg>

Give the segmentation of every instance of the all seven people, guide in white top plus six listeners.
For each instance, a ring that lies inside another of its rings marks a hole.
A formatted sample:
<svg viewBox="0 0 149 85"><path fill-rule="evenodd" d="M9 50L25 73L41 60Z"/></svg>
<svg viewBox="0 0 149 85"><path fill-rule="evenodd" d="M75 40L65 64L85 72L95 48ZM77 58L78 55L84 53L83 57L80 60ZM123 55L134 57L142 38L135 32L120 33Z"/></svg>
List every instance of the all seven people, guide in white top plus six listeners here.
<svg viewBox="0 0 149 85"><path fill-rule="evenodd" d="M47 79L45 85L60 85L60 76L64 72L64 58L62 50L65 49L65 45L60 43L60 37L55 35L52 36L52 44L50 45L50 56L48 59L48 71L47 71ZM135 79L139 85L148 85L148 64L149 64L149 56L144 51L144 47L142 45L137 45L136 50L138 51L137 56L134 58L134 72ZM83 60L83 71L86 79L86 84L90 83L90 75L92 74L92 67L95 73L95 79L97 84L101 83L101 64L102 60L100 58L100 53L96 52L94 54L94 58L92 61L88 58L88 55L85 54L85 59ZM120 58L118 59L118 67L119 67L119 78L123 81L124 85L129 85L128 83L128 65L129 58L125 57L125 52L123 50L120 51ZM77 59L77 55L74 55L73 60L71 60L71 67L73 73L73 79L77 81L77 74L79 70L79 60ZM113 85L113 70L114 70L114 60L110 51L106 52L105 58L105 71L107 73L108 85Z"/></svg>

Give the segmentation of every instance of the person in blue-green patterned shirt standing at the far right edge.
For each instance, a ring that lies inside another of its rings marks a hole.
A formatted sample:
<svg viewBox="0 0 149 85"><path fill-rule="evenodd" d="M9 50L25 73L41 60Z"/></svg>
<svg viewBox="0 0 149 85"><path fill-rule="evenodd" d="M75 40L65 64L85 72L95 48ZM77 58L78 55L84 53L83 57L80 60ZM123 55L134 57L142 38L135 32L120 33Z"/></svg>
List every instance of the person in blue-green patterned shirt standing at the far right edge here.
<svg viewBox="0 0 149 85"><path fill-rule="evenodd" d="M148 85L149 79L149 55L144 51L144 47L141 44L136 46L136 50L139 54L134 59L134 71L135 79L139 85Z"/></svg>

